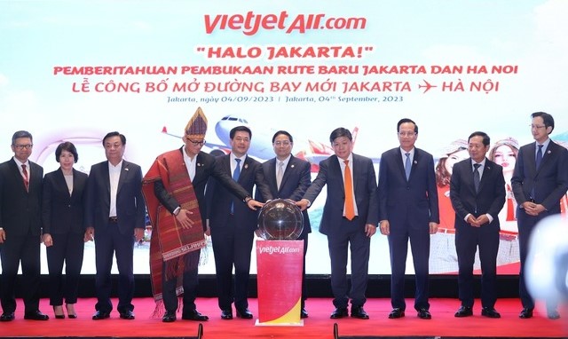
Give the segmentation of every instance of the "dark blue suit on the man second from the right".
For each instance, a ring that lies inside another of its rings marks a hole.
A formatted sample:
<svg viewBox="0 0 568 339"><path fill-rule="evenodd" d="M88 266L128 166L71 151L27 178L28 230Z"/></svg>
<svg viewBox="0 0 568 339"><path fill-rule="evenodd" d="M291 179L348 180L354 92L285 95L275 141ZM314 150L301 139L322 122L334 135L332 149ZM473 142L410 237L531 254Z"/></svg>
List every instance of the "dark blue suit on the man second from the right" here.
<svg viewBox="0 0 568 339"><path fill-rule="evenodd" d="M485 160L483 175L476 192L471 159L454 164L450 181L450 199L455 211L455 249L458 255L459 295L461 305L472 307L473 264L477 246L481 261L481 305L493 309L497 300L497 252L499 250L499 212L505 204L503 168ZM493 222L474 227L465 217L489 214Z"/></svg>

